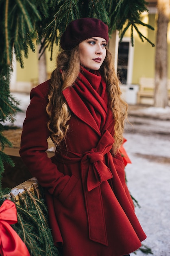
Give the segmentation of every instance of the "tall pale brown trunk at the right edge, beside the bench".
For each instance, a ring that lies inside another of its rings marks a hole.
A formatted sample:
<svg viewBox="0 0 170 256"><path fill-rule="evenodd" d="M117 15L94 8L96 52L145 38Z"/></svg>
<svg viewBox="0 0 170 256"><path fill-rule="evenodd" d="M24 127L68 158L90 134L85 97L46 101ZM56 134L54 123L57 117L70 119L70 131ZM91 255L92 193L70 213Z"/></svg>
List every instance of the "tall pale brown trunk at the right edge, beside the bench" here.
<svg viewBox="0 0 170 256"><path fill-rule="evenodd" d="M168 46L167 29L170 15L170 0L158 0L157 42L155 55L154 106L168 106Z"/></svg>

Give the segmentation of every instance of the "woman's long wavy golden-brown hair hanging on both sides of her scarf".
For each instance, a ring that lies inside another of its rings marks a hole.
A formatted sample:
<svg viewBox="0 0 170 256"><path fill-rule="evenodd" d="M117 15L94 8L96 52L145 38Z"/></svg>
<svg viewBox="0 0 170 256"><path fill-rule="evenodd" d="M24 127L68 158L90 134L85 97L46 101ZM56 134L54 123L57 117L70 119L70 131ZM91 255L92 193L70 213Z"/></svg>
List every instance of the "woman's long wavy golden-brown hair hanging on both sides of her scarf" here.
<svg viewBox="0 0 170 256"><path fill-rule="evenodd" d="M105 60L99 71L106 82L113 118L115 120L113 153L116 154L123 142L127 104L121 99L119 79L111 61L111 53L107 48ZM46 108L49 116L48 129L51 132L51 138L56 148L65 139L69 128L67 122L71 117L71 113L61 92L65 88L73 85L74 81L78 78L79 72L80 59L78 46L74 47L71 51L63 51L57 56L57 68L51 75L48 92L49 102Z"/></svg>

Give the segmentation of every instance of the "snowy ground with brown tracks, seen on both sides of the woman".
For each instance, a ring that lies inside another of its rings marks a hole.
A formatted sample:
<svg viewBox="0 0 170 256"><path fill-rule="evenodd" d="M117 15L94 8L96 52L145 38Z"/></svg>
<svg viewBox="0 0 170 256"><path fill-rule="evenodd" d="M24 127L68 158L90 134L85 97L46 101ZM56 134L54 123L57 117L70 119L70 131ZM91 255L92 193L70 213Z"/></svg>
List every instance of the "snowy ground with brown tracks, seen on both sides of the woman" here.
<svg viewBox="0 0 170 256"><path fill-rule="evenodd" d="M24 111L17 114L14 125L22 127L29 95L14 96ZM124 134L124 148L132 161L126 166L126 177L141 206L135 211L147 235L142 243L153 256L170 256L170 108L130 106L129 115L134 124ZM137 251L137 256L144 255Z"/></svg>

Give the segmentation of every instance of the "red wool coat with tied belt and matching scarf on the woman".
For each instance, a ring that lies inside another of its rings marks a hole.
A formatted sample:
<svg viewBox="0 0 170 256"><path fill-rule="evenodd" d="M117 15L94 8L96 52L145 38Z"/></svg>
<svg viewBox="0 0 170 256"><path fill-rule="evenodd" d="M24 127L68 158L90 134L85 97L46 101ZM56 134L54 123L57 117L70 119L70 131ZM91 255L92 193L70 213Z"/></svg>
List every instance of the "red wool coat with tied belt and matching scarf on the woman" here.
<svg viewBox="0 0 170 256"><path fill-rule="evenodd" d="M84 70L63 91L72 113L66 146L47 157L49 81L31 91L20 155L46 188L49 219L63 256L122 256L146 238L126 187L124 162L113 157L114 120L100 74Z"/></svg>

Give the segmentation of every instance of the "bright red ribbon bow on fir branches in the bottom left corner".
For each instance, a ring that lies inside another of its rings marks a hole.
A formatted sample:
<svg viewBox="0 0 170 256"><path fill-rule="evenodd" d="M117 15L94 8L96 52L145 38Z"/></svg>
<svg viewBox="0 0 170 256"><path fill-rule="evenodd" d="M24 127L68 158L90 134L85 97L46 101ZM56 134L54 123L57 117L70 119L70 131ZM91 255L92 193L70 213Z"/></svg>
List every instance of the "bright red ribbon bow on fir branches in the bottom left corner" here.
<svg viewBox="0 0 170 256"><path fill-rule="evenodd" d="M0 255L30 256L20 236L10 226L17 223L17 209L14 202L5 200L0 207Z"/></svg>

